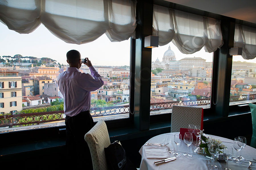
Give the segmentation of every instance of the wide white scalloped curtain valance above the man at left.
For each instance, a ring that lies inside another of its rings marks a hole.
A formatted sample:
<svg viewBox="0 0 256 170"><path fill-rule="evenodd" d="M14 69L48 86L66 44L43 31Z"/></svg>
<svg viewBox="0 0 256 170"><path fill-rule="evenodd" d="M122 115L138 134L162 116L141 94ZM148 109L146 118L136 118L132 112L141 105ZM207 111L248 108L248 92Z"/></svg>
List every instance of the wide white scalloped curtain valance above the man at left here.
<svg viewBox="0 0 256 170"><path fill-rule="evenodd" d="M136 0L0 0L0 21L18 33L41 23L67 43L84 44L106 33L129 39L136 28Z"/></svg>

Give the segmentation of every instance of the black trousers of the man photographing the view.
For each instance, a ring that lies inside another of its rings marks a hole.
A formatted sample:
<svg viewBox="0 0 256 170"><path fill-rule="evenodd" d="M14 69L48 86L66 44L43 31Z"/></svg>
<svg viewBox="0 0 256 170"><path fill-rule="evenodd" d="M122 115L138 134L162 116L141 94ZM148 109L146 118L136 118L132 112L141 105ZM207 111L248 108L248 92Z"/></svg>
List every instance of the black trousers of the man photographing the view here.
<svg viewBox="0 0 256 170"><path fill-rule="evenodd" d="M67 162L72 161L75 166L83 166L93 169L92 158L84 135L94 126L89 111L80 112L76 116L66 116L66 148Z"/></svg>

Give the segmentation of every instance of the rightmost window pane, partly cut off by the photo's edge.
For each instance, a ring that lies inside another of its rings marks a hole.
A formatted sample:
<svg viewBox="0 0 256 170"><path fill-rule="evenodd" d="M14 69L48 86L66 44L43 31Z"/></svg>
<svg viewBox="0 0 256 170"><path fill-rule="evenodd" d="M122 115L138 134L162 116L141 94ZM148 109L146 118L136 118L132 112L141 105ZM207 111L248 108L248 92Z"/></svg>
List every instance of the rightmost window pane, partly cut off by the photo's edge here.
<svg viewBox="0 0 256 170"><path fill-rule="evenodd" d="M256 101L256 58L233 56L229 105Z"/></svg>

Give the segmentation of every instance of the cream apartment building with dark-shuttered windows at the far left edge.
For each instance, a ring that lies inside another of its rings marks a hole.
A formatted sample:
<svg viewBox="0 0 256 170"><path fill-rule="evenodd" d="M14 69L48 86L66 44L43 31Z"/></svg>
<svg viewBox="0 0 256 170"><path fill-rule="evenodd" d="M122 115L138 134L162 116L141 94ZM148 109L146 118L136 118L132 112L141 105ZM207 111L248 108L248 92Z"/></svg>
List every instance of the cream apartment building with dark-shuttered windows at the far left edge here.
<svg viewBox="0 0 256 170"><path fill-rule="evenodd" d="M0 114L22 110L21 77L13 70L0 69Z"/></svg>

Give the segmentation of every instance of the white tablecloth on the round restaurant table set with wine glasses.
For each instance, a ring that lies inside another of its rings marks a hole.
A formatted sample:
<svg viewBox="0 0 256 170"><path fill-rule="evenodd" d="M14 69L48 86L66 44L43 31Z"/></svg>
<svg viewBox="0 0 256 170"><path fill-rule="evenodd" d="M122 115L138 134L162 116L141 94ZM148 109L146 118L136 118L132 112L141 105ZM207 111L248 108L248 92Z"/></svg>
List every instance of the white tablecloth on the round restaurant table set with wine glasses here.
<svg viewBox="0 0 256 170"><path fill-rule="evenodd" d="M156 147L160 147L160 148L165 148L167 154L168 154L168 158L172 157L172 154L168 152L167 147L170 147L172 153L176 152L176 148L177 145L174 143L174 134L175 133L179 133L179 132L174 132L174 133L165 133L162 135L158 135L155 136L151 139L149 139L147 142L148 143L169 143L166 146L156 146ZM214 139L220 139L224 145L230 145L233 146L233 141L230 139L226 139L223 137L218 137L218 136L214 136L214 135L210 135L210 137L214 138ZM196 141L193 141L193 143L195 143ZM178 153L181 154L180 157L177 157L176 160L167 162L167 163L163 163L161 165L155 165L154 161L158 161L161 160L161 158L158 159L149 159L147 157L150 157L149 154L147 155L146 153L148 153L148 151L150 151L150 146L146 146L143 145L139 151L139 153L141 154L142 158L141 158L141 165L140 165L140 170L166 170L166 169L209 169L208 168L208 164L212 164L212 160L203 156L203 155L199 155L194 153L193 151L195 150L195 146L190 145L188 152L189 154L192 155L191 158L186 158L185 156L183 156L183 153L187 153L187 145L184 143L184 141L181 141L181 144L178 146ZM146 148L147 147L147 148ZM146 148L146 151L145 151ZM162 151L163 149L161 149ZM165 152L165 150L163 150ZM236 157L236 153L237 151L234 149L233 147L233 158ZM166 153L163 153L163 155L166 155ZM238 152L238 156L240 156L240 151ZM245 161L243 161L242 163L235 163L232 160L228 160L228 168L232 169L232 170L236 170L236 169L247 169L247 167L249 166L249 161L253 158L256 159L256 149L251 147L251 146L245 146L242 149L242 156L244 158L246 158ZM161 157L161 156L159 156ZM218 157L218 156L217 156ZM163 159L163 158L162 158ZM217 159L214 159L214 165L218 166L218 169L222 170L222 168L226 167L226 163L220 163L218 162ZM253 162L251 165L252 169L256 170L256 163Z"/></svg>

